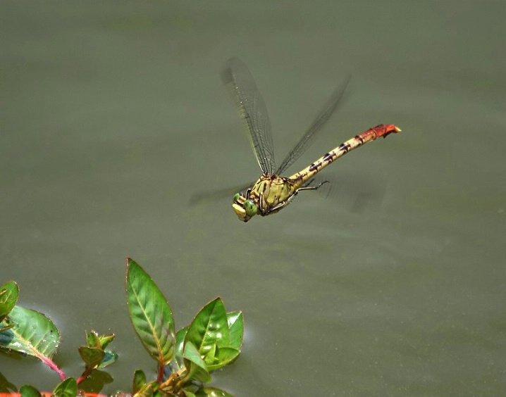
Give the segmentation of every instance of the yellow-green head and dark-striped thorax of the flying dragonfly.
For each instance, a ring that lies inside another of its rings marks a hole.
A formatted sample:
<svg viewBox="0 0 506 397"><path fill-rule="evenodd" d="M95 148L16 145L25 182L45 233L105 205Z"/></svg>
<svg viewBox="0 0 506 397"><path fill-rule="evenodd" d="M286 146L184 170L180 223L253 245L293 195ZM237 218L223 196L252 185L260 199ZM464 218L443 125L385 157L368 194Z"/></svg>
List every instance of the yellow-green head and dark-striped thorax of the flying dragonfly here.
<svg viewBox="0 0 506 397"><path fill-rule="evenodd" d="M294 182L278 175L263 174L245 193L236 193L232 203L243 222L254 215L276 213L296 191Z"/></svg>

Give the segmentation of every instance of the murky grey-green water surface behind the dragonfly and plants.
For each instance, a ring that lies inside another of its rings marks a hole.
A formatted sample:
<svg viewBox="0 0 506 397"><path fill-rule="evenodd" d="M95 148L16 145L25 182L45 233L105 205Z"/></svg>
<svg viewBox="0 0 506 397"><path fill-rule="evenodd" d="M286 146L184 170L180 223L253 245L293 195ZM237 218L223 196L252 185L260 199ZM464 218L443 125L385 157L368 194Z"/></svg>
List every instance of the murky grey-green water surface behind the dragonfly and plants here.
<svg viewBox="0 0 506 397"><path fill-rule="evenodd" d="M243 310L236 396L499 396L506 390L503 1L4 1L1 282L63 334L116 332L106 388L154 372L125 307L125 256L177 327L222 296ZM336 193L238 222L259 169L218 78L240 56L278 162L334 87L350 95L290 171L358 132L403 132L331 165ZM0 357L21 386L58 379Z"/></svg>

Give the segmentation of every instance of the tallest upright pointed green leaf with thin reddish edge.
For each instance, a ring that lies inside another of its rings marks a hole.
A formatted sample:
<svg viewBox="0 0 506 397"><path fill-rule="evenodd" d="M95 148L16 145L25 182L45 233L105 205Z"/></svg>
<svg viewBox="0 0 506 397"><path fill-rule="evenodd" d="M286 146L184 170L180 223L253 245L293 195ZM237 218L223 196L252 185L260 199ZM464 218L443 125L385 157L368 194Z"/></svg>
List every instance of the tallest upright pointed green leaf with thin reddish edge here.
<svg viewBox="0 0 506 397"><path fill-rule="evenodd" d="M165 366L174 356L175 331L171 307L153 280L134 260L127 260L130 320L148 353Z"/></svg>

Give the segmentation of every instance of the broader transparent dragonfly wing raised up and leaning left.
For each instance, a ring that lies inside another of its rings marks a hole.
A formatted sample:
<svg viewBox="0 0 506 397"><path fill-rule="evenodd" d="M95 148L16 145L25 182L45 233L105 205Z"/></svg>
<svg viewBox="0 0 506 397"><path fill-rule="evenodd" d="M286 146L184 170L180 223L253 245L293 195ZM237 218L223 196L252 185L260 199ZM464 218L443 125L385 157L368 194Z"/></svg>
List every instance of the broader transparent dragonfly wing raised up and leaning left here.
<svg viewBox="0 0 506 397"><path fill-rule="evenodd" d="M249 132L249 138L260 168L263 172L273 174L274 145L271 134L271 122L267 108L255 84L252 74L240 59L228 61L221 78L233 92L233 99Z"/></svg>

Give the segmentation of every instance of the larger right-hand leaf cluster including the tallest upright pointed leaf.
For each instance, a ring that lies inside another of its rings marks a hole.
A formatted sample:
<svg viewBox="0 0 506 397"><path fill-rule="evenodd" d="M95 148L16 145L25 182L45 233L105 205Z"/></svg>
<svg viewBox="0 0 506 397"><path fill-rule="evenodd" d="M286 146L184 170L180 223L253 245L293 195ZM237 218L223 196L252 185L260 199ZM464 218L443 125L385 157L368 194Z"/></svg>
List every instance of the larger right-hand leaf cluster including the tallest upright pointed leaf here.
<svg viewBox="0 0 506 397"><path fill-rule="evenodd" d="M159 366L159 377L154 382L147 382L144 372L135 372L135 396L230 396L204 384L211 382L209 372L228 365L240 354L242 313L227 313L221 298L215 298L204 305L189 326L175 332L166 298L130 258L126 286L130 320Z"/></svg>

